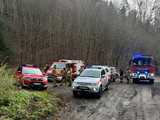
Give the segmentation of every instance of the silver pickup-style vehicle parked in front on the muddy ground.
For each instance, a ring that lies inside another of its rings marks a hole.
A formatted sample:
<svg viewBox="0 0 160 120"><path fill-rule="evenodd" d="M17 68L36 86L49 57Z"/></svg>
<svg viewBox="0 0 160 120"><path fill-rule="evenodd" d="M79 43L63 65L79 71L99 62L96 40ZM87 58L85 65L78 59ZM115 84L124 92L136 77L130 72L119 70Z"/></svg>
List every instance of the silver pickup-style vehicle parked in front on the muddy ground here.
<svg viewBox="0 0 160 120"><path fill-rule="evenodd" d="M108 86L108 76L104 68L87 68L74 80L72 90L75 97L79 94L95 94L101 97Z"/></svg>

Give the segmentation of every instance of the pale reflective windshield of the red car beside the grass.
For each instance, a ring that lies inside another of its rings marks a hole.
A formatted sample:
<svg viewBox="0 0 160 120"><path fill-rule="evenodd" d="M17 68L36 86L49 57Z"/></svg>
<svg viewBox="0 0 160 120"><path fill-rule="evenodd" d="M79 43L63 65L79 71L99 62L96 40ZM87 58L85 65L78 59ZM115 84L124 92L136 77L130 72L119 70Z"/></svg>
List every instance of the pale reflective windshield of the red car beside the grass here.
<svg viewBox="0 0 160 120"><path fill-rule="evenodd" d="M42 75L42 72L39 68L23 68L23 74L31 74L31 75Z"/></svg>

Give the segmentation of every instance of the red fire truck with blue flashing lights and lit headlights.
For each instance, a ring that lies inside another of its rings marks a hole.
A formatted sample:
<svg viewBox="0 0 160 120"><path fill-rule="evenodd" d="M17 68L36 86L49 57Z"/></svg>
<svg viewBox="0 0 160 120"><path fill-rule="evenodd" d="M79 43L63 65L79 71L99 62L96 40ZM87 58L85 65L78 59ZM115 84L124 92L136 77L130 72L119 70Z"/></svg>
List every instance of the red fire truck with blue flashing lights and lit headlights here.
<svg viewBox="0 0 160 120"><path fill-rule="evenodd" d="M136 53L130 60L130 76L133 83L149 81L154 83L156 66L152 56Z"/></svg>

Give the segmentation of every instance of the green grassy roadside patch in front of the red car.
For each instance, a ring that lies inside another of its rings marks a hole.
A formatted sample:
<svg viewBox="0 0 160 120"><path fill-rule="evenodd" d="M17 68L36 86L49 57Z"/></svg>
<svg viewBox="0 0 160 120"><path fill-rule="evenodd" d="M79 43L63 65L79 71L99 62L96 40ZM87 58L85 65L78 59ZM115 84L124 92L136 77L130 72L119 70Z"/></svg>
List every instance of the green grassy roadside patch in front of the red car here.
<svg viewBox="0 0 160 120"><path fill-rule="evenodd" d="M47 91L17 90L13 72L0 67L0 120L41 120L57 110L57 98Z"/></svg>

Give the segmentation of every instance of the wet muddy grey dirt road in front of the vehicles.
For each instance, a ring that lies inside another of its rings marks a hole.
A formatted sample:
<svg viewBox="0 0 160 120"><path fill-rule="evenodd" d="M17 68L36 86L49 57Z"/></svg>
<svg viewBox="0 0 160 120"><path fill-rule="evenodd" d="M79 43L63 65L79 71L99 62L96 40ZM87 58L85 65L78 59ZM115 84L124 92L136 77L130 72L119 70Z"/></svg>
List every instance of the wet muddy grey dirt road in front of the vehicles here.
<svg viewBox="0 0 160 120"><path fill-rule="evenodd" d="M100 99L74 98L70 88L57 87L54 91L66 103L59 120L160 120L158 78L154 85L113 83Z"/></svg>

